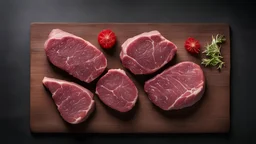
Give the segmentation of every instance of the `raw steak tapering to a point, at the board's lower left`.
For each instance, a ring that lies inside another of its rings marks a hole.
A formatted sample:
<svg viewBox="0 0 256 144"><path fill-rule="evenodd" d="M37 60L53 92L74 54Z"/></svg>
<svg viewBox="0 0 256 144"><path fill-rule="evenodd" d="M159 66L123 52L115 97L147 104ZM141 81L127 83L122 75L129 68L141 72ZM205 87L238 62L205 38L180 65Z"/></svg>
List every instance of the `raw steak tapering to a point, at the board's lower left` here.
<svg viewBox="0 0 256 144"><path fill-rule="evenodd" d="M44 77L44 86L52 93L52 98L62 118L70 124L85 121L94 111L93 93L73 82Z"/></svg>

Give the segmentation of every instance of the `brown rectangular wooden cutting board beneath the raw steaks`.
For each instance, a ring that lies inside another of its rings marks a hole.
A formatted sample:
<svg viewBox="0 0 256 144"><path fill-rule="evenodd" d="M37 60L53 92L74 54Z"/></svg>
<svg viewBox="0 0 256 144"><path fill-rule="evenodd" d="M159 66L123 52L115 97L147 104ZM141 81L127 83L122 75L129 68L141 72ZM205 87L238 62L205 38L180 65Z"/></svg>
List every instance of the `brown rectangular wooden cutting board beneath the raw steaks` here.
<svg viewBox="0 0 256 144"><path fill-rule="evenodd" d="M134 76L126 70L139 90L135 108L120 114L105 106L95 94L96 110L90 118L78 125L70 125L62 120L51 94L42 85L44 76L76 82L95 93L95 84L83 83L66 72L51 65L44 52L44 42L53 28L80 36L107 57L110 68L123 68L119 59L121 44L129 37L142 32L158 30L164 37L174 42L178 51L175 58L153 75ZM103 50L97 42L98 33L105 28L112 29L117 36L116 47ZM184 41L192 36L202 46L211 42L211 36L223 34L226 43L222 45L225 67L221 72L216 68L202 66L206 77L206 91L194 106L182 110L164 112L154 106L143 90L145 80L178 62L190 60L200 64L204 57L192 56L184 49ZM43 133L224 133L230 129L230 30L227 24L163 24L163 23L33 23L30 39L30 128L32 132Z"/></svg>

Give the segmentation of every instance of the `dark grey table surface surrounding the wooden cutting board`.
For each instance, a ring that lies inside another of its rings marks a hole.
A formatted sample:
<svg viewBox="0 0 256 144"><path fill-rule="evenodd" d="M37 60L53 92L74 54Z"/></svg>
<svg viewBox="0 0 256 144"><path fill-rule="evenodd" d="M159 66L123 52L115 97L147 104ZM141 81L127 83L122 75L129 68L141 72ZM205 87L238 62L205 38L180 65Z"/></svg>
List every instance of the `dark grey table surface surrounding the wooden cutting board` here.
<svg viewBox="0 0 256 144"><path fill-rule="evenodd" d="M256 3L227 0L0 1L0 128L4 143L256 143ZM221 22L231 27L229 134L32 135L29 129L31 22ZM1 143L2 143L1 142Z"/></svg>

